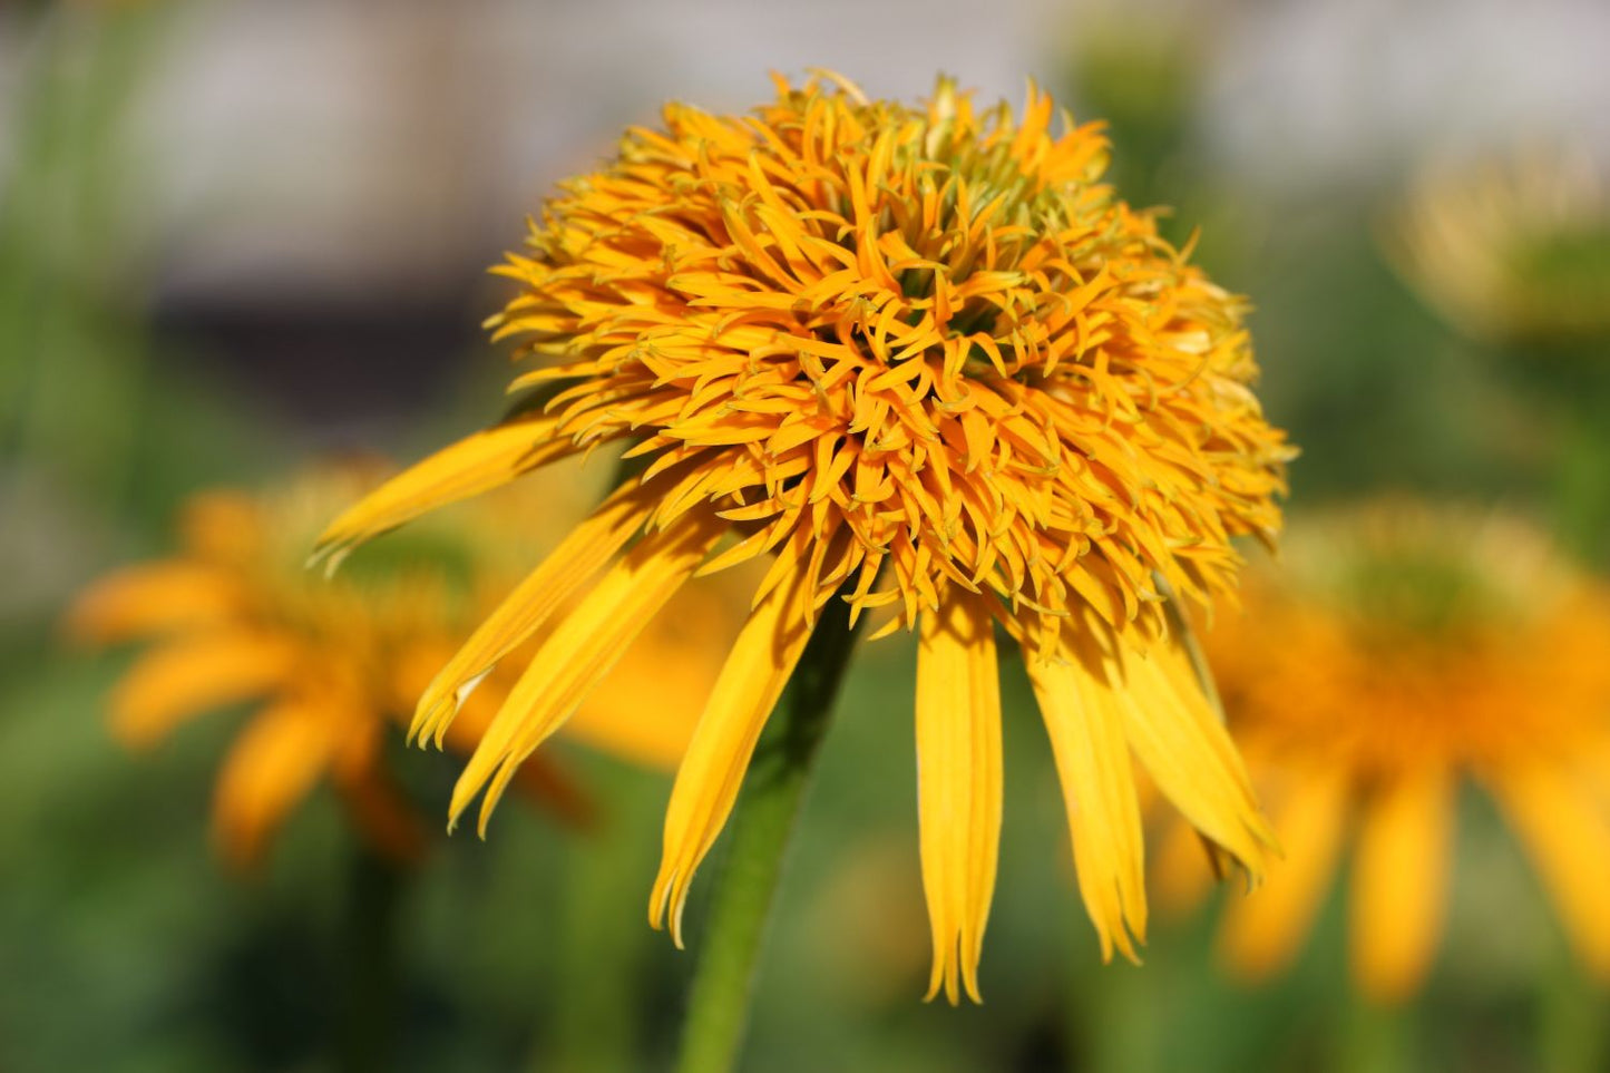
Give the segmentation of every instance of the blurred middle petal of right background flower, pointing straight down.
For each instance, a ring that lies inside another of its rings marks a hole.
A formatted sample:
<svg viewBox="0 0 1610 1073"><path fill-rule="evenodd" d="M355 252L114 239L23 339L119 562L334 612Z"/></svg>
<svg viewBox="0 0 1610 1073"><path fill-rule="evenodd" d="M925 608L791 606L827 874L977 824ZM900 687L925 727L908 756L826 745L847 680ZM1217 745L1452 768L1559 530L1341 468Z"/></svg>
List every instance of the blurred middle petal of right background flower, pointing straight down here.
<svg viewBox="0 0 1610 1073"><path fill-rule="evenodd" d="M1352 865L1352 970L1381 1002L1412 994L1443 930L1452 778L1417 770L1383 785L1364 810Z"/></svg>

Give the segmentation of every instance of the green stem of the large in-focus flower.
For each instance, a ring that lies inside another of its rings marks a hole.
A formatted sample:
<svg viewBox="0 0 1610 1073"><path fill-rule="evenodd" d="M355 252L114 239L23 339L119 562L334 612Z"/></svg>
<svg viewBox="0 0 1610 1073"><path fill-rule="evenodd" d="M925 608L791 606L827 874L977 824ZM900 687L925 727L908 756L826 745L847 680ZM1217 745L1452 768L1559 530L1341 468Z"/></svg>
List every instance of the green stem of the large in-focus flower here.
<svg viewBox="0 0 1610 1073"><path fill-rule="evenodd" d="M683 1023L681 1073L726 1073L737 1063L789 835L853 648L848 604L836 596L823 609L749 765L726 867L705 917Z"/></svg>

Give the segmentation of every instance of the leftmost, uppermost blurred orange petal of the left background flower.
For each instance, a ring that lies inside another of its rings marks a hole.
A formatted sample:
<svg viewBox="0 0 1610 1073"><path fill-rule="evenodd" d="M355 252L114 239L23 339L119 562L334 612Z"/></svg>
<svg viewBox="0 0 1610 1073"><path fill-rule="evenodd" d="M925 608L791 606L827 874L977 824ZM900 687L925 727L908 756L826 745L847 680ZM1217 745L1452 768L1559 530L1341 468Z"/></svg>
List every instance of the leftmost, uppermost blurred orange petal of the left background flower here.
<svg viewBox="0 0 1610 1073"><path fill-rule="evenodd" d="M216 567L171 559L129 567L84 591L68 611L74 640L111 644L225 622L245 607L240 583Z"/></svg>

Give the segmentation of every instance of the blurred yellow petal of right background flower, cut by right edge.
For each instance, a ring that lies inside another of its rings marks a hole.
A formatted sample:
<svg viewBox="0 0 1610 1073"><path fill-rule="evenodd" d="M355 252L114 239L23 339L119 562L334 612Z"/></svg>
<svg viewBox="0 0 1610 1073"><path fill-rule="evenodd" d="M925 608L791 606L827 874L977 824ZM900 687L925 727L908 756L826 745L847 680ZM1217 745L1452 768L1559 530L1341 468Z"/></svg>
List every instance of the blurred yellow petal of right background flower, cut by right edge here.
<svg viewBox="0 0 1610 1073"><path fill-rule="evenodd" d="M1568 772L1512 770L1489 780L1542 876L1578 954L1610 980L1610 818Z"/></svg>

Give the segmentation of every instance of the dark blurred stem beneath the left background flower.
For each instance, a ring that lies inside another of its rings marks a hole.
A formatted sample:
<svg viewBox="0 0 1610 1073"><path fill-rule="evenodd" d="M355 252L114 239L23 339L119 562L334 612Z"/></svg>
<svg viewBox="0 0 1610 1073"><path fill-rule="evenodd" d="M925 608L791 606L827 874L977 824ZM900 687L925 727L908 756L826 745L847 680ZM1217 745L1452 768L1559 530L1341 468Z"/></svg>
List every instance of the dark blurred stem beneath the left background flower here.
<svg viewBox="0 0 1610 1073"><path fill-rule="evenodd" d="M396 1055L398 910L407 886L402 865L367 844L353 854L346 902L346 1009L341 1023L343 1073L393 1068Z"/></svg>

